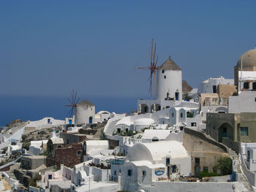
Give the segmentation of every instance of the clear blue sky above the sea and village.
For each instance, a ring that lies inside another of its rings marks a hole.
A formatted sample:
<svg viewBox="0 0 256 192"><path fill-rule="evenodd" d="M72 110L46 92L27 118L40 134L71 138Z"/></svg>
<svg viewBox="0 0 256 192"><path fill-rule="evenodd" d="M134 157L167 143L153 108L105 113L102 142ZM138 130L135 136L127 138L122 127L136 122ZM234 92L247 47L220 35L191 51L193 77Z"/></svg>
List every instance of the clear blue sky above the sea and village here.
<svg viewBox="0 0 256 192"><path fill-rule="evenodd" d="M192 87L233 78L256 1L1 1L0 95L146 96L151 38Z"/></svg>

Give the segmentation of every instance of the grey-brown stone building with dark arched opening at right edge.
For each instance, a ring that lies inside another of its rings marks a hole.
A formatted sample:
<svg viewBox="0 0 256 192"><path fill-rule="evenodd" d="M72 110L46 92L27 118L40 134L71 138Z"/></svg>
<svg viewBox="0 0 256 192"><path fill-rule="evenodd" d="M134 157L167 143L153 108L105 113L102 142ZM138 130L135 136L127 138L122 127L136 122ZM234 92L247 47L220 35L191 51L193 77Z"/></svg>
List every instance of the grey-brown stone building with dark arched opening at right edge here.
<svg viewBox="0 0 256 192"><path fill-rule="evenodd" d="M239 152L239 142L256 142L256 113L208 113L206 133Z"/></svg>

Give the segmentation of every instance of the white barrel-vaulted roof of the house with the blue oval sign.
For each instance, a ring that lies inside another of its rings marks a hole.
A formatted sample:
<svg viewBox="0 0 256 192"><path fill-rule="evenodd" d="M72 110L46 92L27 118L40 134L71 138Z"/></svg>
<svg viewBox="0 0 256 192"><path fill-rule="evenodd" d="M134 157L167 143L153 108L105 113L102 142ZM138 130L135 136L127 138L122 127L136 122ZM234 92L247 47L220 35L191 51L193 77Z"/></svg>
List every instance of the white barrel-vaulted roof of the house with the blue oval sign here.
<svg viewBox="0 0 256 192"><path fill-rule="evenodd" d="M161 161L163 158L186 158L189 155L181 142L137 143L128 151L129 161Z"/></svg>

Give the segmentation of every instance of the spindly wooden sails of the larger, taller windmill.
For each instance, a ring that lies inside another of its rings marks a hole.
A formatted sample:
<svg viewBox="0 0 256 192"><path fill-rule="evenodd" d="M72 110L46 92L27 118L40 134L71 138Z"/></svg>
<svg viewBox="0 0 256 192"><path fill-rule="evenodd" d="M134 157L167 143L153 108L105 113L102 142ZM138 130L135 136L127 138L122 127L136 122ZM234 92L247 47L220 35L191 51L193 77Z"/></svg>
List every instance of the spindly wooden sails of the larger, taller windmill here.
<svg viewBox="0 0 256 192"><path fill-rule="evenodd" d="M154 39L152 39L152 42L150 42L150 45L151 45L151 50L149 52L150 66L135 67L135 69L146 69L146 70L149 69L150 70L150 76L148 77L148 81L150 80L148 93L150 93L150 96L152 99L153 88L154 88L154 93L155 93L156 85L157 85L156 72L157 72L158 55L156 58L157 43L154 43ZM154 76L154 87L152 86L153 76Z"/></svg>

